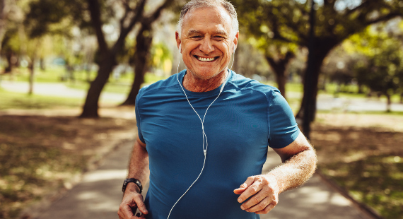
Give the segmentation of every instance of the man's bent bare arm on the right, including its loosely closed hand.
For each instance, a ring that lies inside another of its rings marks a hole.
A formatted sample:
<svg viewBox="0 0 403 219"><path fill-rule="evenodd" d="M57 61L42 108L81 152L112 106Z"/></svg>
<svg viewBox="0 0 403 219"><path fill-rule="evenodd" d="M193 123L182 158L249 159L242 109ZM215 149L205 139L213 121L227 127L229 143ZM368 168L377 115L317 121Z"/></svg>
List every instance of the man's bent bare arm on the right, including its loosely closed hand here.
<svg viewBox="0 0 403 219"><path fill-rule="evenodd" d="M279 194L306 182L315 172L316 154L313 147L300 133L293 143L285 148L274 149L283 163L267 174L248 177L235 189L240 194L241 209L257 214L269 213L279 202Z"/></svg>

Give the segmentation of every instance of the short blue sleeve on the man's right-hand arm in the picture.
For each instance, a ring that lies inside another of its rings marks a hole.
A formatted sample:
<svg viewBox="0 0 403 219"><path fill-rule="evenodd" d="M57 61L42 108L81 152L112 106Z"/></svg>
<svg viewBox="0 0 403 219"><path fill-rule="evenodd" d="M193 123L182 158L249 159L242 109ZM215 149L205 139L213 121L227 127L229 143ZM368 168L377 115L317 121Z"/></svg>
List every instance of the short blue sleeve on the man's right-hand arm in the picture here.
<svg viewBox="0 0 403 219"><path fill-rule="evenodd" d="M300 134L298 124L288 102L279 90L269 93L269 147L284 148Z"/></svg>

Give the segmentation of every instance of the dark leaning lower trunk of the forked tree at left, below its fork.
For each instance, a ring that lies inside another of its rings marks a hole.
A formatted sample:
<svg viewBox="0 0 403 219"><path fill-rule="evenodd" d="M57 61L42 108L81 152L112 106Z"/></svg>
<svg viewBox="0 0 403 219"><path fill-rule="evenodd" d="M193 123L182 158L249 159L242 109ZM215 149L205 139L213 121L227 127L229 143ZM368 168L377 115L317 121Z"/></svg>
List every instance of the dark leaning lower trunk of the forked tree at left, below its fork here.
<svg viewBox="0 0 403 219"><path fill-rule="evenodd" d="M100 68L95 80L91 83L86 97L86 102L81 113L81 118L98 118L98 100L103 87L109 79L113 66L116 64L116 55L107 52L105 58L100 62Z"/></svg>

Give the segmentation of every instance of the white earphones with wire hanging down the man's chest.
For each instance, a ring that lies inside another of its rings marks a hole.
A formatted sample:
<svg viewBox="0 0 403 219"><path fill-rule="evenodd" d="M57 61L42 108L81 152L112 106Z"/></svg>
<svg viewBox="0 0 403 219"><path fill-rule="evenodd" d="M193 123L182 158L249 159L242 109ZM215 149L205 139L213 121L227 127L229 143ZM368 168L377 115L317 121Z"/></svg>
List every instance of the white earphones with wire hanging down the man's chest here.
<svg viewBox="0 0 403 219"><path fill-rule="evenodd" d="M182 49L181 49L180 45L179 45L179 53L182 53ZM234 47L233 47L233 53L235 53L235 44L234 44ZM187 102L189 102L190 107L192 107L193 111L196 112L196 109L193 108L192 104L191 104L190 101L189 101L189 98L187 98L185 89L182 87L182 83L180 83L180 81L179 81L179 76L178 76L178 74L179 74L179 64L180 64L180 59L179 59L179 62L178 62L178 64L177 64L177 74L176 74L177 83L179 83L180 88L182 88L182 91L183 91L183 93L185 94L186 100L187 100ZM233 64L234 64L234 61L233 61ZM231 69L232 69L232 67L233 67L233 66L232 66L233 64L231 64ZM232 70L231 70L231 71L232 71ZM209 107L207 107L206 112L204 113L203 119L202 119L202 118L199 116L199 114L196 112L197 117L199 117L200 122L202 122L203 153L204 153L204 162L203 162L202 171L199 173L199 176L197 177L197 179L199 179L199 177L202 175L202 172L203 172L203 170L204 170L204 165L206 164L207 147L209 146L209 143L207 142L206 133L204 132L204 119L206 118L207 111L209 110L209 108L211 107L211 105L213 105L213 103L216 102L216 100L218 99L218 97L219 97L219 96L221 95L221 93L223 92L223 90L224 90L224 85L225 85L225 83L226 83L226 80L227 80L227 76L226 76L226 78L225 78L225 80L224 80L223 85L221 86L220 93L218 93L218 96L216 97L216 99L214 99L213 102L211 102L211 104L209 105ZM206 138L206 149L204 149L204 138ZM167 218L167 219L169 219L170 213L172 212L173 208L176 206L177 202L180 201L180 199L182 199L183 196L185 196L185 194L187 193L187 191L189 191L189 189L193 186L193 184L197 181L197 179L194 180L194 182L193 182L193 183L190 185L190 187L185 191L185 193L182 194L182 196L180 196L180 198L177 199L177 201L176 201L175 204L172 206L172 208L170 208L170 212L169 212L169 214L168 214L168 218Z"/></svg>

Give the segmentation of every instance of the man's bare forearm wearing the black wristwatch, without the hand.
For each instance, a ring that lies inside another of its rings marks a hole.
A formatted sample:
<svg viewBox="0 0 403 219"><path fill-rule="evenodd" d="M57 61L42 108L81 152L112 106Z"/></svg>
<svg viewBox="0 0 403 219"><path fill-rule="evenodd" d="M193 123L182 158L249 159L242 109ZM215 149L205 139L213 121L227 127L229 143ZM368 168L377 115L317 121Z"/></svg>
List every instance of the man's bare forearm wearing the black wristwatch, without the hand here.
<svg viewBox="0 0 403 219"><path fill-rule="evenodd" d="M129 173L127 178L139 179L143 186L148 182L148 177L150 176L150 170L148 167L148 152L144 143L141 143L140 139L137 138L136 143L134 143L132 156L129 162ZM127 184L127 190L139 191L139 188L134 183Z"/></svg>

